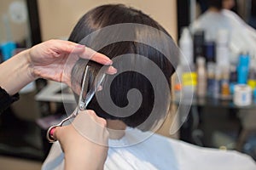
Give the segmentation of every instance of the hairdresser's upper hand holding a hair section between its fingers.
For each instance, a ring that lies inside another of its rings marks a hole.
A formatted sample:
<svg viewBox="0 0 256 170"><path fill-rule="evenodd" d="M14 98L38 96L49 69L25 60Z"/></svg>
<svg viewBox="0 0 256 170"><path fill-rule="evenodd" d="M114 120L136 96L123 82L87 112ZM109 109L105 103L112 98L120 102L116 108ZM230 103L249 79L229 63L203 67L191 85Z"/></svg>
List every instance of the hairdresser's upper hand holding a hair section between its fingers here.
<svg viewBox="0 0 256 170"><path fill-rule="evenodd" d="M28 62L32 77L43 77L70 85L70 73L80 58L91 59L102 65L111 65L111 59L74 42L49 40L29 49Z"/></svg>

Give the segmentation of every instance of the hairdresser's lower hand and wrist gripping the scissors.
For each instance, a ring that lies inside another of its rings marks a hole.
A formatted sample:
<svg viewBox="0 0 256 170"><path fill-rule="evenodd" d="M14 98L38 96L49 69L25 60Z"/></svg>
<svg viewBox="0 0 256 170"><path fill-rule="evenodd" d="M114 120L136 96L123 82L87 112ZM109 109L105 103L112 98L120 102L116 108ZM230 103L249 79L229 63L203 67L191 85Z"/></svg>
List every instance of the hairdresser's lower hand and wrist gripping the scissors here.
<svg viewBox="0 0 256 170"><path fill-rule="evenodd" d="M103 169L108 156L106 124L94 111L83 111L71 125L55 128L54 138L65 153L65 169Z"/></svg>

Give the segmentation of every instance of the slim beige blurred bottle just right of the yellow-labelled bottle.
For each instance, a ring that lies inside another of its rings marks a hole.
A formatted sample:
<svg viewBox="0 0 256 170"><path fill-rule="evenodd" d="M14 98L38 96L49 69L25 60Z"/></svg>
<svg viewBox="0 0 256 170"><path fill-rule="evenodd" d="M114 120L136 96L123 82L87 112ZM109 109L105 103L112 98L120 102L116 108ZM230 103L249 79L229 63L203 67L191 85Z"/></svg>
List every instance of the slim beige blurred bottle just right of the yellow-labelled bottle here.
<svg viewBox="0 0 256 170"><path fill-rule="evenodd" d="M197 96L205 97L207 94L207 69L206 69L206 59L203 57L198 57L196 59L197 65Z"/></svg>

